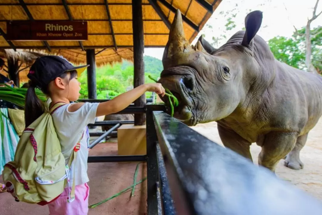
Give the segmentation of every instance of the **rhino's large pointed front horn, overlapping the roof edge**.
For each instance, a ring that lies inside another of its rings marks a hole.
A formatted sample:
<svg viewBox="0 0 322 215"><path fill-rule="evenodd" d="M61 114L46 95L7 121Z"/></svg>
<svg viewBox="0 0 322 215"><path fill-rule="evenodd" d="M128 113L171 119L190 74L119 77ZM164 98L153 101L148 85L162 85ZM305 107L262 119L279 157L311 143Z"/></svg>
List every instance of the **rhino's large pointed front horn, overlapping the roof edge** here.
<svg viewBox="0 0 322 215"><path fill-rule="evenodd" d="M163 52L163 67L166 69L171 64L176 64L187 53L194 51L194 48L185 38L182 16L178 9L175 13L175 18L171 24L169 39Z"/></svg>

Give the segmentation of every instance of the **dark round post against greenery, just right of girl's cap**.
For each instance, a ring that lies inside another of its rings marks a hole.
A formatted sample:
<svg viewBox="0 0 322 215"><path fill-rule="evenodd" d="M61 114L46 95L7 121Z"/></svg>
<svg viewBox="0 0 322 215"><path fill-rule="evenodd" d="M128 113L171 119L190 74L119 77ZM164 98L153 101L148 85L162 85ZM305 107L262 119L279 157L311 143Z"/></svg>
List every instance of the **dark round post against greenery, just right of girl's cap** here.
<svg viewBox="0 0 322 215"><path fill-rule="evenodd" d="M88 98L96 99L95 49L86 50Z"/></svg>

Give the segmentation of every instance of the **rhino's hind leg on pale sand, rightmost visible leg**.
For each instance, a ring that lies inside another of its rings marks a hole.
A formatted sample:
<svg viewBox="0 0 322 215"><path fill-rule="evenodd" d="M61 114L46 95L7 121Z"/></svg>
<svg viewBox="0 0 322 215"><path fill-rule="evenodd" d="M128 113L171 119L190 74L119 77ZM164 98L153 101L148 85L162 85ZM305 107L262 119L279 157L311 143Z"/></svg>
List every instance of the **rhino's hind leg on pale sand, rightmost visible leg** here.
<svg viewBox="0 0 322 215"><path fill-rule="evenodd" d="M286 159L284 161L285 166L294 170L303 169L304 165L300 160L300 151L304 147L307 139L308 133L298 137L294 148L286 156Z"/></svg>

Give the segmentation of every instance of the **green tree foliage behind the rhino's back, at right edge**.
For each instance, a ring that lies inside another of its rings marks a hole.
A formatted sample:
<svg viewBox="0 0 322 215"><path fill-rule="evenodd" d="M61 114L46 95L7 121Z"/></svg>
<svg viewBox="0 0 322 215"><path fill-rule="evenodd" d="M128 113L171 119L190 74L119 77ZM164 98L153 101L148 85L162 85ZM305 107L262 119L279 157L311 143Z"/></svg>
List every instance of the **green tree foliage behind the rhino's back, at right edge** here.
<svg viewBox="0 0 322 215"><path fill-rule="evenodd" d="M322 70L322 26L311 30L311 60L313 66ZM292 37L274 37L268 41L275 58L298 69L306 69L305 65L305 27L294 32Z"/></svg>

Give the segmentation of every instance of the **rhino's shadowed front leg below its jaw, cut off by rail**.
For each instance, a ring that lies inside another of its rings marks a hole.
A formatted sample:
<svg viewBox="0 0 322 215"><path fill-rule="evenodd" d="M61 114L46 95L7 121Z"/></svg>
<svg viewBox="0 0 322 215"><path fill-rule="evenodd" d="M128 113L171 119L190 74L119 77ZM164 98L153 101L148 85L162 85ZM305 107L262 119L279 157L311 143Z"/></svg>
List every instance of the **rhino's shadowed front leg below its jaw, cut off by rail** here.
<svg viewBox="0 0 322 215"><path fill-rule="evenodd" d="M249 141L245 140L231 129L226 129L220 125L218 125L217 128L220 139L222 140L225 147L230 148L234 152L237 152L238 154L250 159L251 162L253 162L250 151L251 143Z"/></svg>

